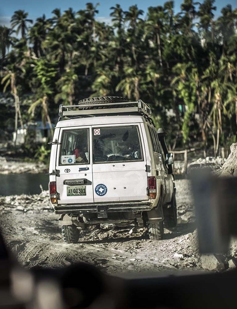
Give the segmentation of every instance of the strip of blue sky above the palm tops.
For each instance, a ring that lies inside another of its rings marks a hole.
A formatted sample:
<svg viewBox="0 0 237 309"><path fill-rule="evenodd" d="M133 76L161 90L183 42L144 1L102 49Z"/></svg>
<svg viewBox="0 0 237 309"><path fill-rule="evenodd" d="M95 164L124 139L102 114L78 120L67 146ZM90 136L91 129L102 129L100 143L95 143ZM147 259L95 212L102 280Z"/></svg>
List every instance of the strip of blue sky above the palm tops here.
<svg viewBox="0 0 237 309"><path fill-rule="evenodd" d="M147 11L148 6L157 6L162 5L165 1L149 1L144 0L102 0L102 1L78 1L78 0L2 0L2 5L0 7L0 24L5 24L7 27L10 26L10 18L16 10L25 10L29 13L29 18L35 20L37 17L46 15L47 18L51 17L51 12L55 8L60 8L61 11L67 10L69 7L72 7L74 11L81 10L85 8L86 2L93 2L94 4L100 2L98 7L99 14L97 18L106 22L110 21L110 7L115 6L116 3L119 3L123 10L128 10L129 6L137 4L139 9L144 12ZM201 0L199 0L202 2ZM4 5L3 5L4 3ZM175 12L180 11L180 5L182 0L176 0L175 2ZM217 6L216 17L220 15L220 11L223 6L231 4L233 8L237 7L236 0L227 0L221 1L216 0L215 5ZM145 15L145 14L144 14Z"/></svg>

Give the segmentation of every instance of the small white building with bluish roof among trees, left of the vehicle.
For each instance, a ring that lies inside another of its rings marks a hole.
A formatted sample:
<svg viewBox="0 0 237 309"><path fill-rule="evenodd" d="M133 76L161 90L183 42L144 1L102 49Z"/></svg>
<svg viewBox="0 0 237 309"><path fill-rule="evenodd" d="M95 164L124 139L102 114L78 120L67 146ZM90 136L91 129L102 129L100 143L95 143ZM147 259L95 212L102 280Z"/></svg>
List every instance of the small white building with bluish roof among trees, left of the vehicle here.
<svg viewBox="0 0 237 309"><path fill-rule="evenodd" d="M55 124L52 123L53 129L55 128ZM48 122L44 125L42 121L30 122L27 125L24 125L24 128L17 129L16 132L13 132L13 142L16 139L16 145L22 145L25 142L25 137L28 134L34 138L35 143L45 143L48 138L51 138L50 126Z"/></svg>

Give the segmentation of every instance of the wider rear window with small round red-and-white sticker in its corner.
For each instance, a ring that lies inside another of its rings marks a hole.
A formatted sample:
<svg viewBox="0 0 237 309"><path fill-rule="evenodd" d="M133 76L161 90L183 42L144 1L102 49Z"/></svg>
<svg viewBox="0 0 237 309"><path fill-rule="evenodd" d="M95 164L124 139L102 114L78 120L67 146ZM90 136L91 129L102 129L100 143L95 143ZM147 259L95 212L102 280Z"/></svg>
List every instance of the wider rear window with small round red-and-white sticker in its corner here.
<svg viewBox="0 0 237 309"><path fill-rule="evenodd" d="M137 126L93 128L93 162L141 161Z"/></svg>

